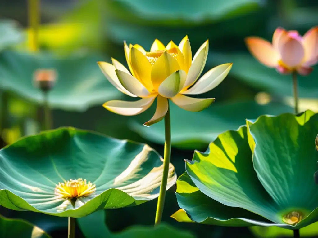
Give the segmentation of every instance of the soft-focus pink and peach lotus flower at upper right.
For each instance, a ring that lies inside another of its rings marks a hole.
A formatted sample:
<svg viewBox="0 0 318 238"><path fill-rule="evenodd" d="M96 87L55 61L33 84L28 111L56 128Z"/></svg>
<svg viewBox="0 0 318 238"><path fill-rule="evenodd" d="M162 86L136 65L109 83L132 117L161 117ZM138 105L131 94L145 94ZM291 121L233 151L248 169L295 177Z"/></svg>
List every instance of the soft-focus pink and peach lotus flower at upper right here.
<svg viewBox="0 0 318 238"><path fill-rule="evenodd" d="M251 54L262 64L275 68L281 74L293 71L308 75L311 66L318 62L318 26L311 28L304 36L298 31L278 27L272 44L257 36L247 37L246 45Z"/></svg>

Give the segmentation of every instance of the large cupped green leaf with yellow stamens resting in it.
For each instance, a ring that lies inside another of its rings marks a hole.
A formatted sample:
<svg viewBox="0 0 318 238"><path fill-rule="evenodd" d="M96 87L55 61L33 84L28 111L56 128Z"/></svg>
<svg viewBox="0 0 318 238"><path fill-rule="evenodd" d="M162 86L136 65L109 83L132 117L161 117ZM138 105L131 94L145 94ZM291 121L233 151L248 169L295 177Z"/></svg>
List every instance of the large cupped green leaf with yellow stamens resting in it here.
<svg viewBox="0 0 318 238"><path fill-rule="evenodd" d="M152 200L163 170L162 157L146 144L73 128L25 137L1 149L0 157L0 205L56 216L82 217ZM96 190L80 195L78 189L70 199L60 196L65 186L56 191L59 182L79 178ZM170 164L167 188L175 182Z"/></svg>

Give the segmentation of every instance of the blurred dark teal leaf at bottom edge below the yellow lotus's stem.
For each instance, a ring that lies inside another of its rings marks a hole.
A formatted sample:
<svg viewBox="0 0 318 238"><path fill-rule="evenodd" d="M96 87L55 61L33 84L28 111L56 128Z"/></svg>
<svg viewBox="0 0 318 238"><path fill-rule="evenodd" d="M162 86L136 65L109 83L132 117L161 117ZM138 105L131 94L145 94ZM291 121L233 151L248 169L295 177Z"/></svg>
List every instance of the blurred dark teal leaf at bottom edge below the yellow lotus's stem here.
<svg viewBox="0 0 318 238"><path fill-rule="evenodd" d="M155 228L153 226L132 226L120 233L112 234L105 224L105 219L105 212L97 211L77 219L77 222L86 238L100 237L100 234L110 238L194 238L190 232L178 230L167 224L160 224Z"/></svg>

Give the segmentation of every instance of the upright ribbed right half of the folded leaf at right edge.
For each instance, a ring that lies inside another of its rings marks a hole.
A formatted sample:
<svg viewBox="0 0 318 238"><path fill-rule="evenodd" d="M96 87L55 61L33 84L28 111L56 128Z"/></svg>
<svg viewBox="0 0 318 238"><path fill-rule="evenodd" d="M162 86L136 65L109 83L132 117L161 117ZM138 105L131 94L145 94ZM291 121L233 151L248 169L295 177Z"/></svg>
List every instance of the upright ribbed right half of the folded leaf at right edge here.
<svg viewBox="0 0 318 238"><path fill-rule="evenodd" d="M307 217L299 225L318 221L317 215L310 215L318 206L313 179L318 167L318 114L306 111L297 117L260 116L254 123L247 121L247 125L255 142L254 169L263 187L279 204L280 216L299 211Z"/></svg>

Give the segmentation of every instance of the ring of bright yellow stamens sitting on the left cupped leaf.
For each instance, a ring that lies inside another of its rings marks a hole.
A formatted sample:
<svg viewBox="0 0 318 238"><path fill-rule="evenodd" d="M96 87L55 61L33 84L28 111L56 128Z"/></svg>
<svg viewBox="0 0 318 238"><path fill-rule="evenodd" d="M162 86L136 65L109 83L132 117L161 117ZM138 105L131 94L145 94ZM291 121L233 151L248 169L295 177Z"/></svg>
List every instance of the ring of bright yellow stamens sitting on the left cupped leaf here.
<svg viewBox="0 0 318 238"><path fill-rule="evenodd" d="M86 182L86 179L70 179L56 185L54 193L59 198L76 199L91 195L96 190L96 185Z"/></svg>

